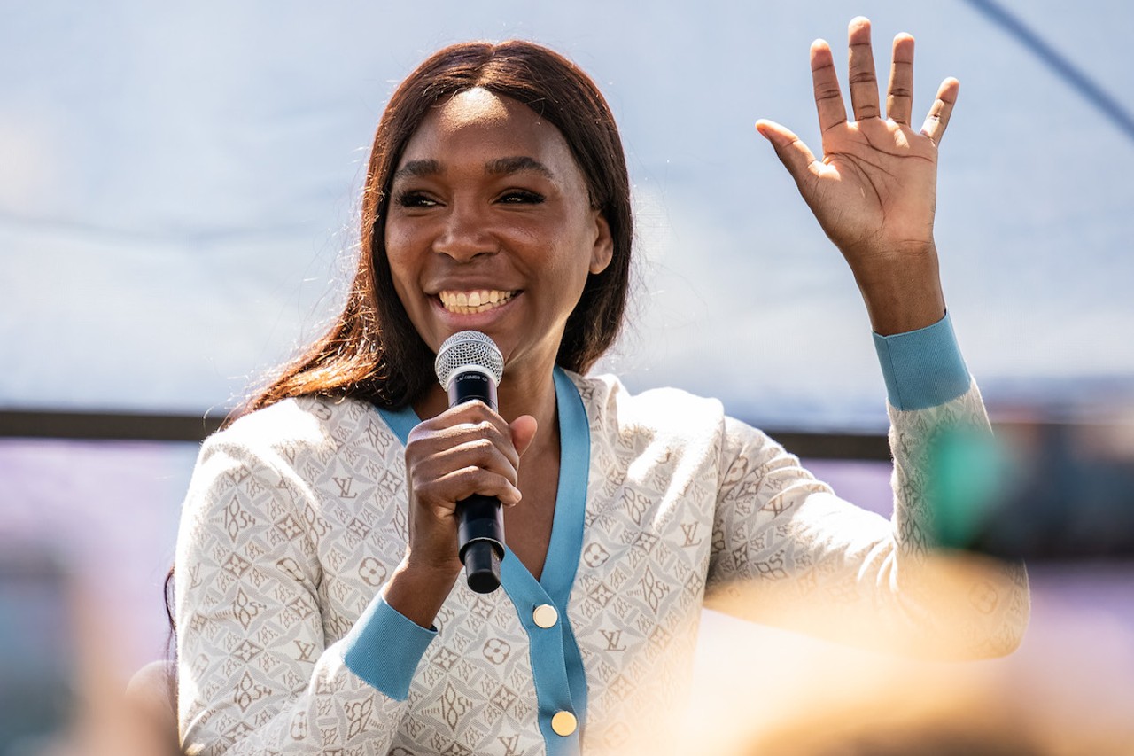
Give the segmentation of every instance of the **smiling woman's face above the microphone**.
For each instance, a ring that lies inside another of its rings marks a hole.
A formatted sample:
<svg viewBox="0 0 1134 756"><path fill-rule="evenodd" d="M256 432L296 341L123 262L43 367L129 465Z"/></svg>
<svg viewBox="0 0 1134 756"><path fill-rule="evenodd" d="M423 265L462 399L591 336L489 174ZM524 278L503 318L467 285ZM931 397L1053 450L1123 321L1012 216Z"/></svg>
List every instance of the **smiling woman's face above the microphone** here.
<svg viewBox="0 0 1134 756"><path fill-rule="evenodd" d="M500 347L508 377L550 373L589 272L612 253L570 149L551 124L483 89L438 106L393 177L386 250L433 351L465 329Z"/></svg>

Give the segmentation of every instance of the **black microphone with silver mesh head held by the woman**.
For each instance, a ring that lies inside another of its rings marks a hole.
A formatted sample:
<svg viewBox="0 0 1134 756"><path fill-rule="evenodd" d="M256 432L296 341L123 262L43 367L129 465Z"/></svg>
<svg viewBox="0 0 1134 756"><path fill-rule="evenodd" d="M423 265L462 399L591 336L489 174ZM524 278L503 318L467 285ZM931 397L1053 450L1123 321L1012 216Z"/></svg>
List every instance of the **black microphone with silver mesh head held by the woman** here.
<svg viewBox="0 0 1134 756"><path fill-rule="evenodd" d="M462 330L445 339L433 362L437 379L449 394L449 406L480 400L494 411L503 356L479 330ZM500 587L503 558L503 512L500 499L474 494L457 502L457 545L468 587L491 594Z"/></svg>

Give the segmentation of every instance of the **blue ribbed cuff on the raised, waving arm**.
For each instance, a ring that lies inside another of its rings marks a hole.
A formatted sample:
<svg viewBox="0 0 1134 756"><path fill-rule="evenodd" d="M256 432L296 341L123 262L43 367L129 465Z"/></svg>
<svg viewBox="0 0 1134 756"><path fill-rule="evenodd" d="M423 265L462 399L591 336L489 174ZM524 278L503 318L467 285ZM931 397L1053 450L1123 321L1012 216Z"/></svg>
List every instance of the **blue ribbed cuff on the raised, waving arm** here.
<svg viewBox="0 0 1134 756"><path fill-rule="evenodd" d="M932 326L894 336L874 334L886 393L898 410L924 410L968 390L972 378L960 356L949 314Z"/></svg>

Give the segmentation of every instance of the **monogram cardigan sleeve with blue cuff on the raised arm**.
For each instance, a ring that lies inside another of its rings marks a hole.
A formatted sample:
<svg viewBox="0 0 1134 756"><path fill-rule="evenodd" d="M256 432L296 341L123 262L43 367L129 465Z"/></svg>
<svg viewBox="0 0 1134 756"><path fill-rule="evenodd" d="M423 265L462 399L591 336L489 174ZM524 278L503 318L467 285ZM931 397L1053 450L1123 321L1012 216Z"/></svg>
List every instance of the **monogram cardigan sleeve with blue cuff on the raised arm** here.
<svg viewBox="0 0 1134 756"><path fill-rule="evenodd" d="M951 328L941 331L879 346L890 396L890 521L838 497L760 431L726 420L711 606L933 656L995 656L1019 644L1029 616L1023 565L940 553L928 537L936 439L990 432Z"/></svg>

